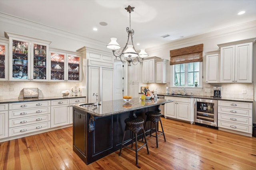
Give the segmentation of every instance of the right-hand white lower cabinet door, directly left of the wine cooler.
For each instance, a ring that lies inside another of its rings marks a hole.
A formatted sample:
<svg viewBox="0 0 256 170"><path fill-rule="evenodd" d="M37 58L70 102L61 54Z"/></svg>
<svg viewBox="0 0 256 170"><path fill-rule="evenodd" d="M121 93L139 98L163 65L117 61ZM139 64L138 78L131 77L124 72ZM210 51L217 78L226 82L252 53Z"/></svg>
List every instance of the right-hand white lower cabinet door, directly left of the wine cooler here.
<svg viewBox="0 0 256 170"><path fill-rule="evenodd" d="M190 104L177 103L177 119L190 121Z"/></svg>

